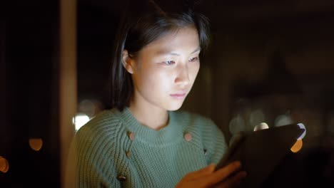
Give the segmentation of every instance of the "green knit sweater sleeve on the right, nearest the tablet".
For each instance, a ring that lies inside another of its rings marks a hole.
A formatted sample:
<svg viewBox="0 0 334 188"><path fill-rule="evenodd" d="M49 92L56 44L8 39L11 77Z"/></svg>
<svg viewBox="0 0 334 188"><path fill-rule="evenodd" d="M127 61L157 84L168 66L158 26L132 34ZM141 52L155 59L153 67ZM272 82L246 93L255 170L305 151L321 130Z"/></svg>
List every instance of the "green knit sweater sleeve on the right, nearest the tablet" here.
<svg viewBox="0 0 334 188"><path fill-rule="evenodd" d="M208 152L208 164L217 164L228 149L223 132L209 119L207 119L206 129L203 132L204 145Z"/></svg>

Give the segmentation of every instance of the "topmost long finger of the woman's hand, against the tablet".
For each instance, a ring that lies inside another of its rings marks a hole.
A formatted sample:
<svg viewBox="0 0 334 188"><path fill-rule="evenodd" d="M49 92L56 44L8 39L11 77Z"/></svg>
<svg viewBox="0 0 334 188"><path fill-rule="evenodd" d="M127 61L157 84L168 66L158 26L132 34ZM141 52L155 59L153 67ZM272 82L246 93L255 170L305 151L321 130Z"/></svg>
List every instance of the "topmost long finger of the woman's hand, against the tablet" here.
<svg viewBox="0 0 334 188"><path fill-rule="evenodd" d="M238 169L241 168L240 162L232 162L228 164L226 167L218 169L216 172L212 174L208 174L206 178L207 186L212 186L213 184L217 184L218 182L223 181L233 172L236 172Z"/></svg>

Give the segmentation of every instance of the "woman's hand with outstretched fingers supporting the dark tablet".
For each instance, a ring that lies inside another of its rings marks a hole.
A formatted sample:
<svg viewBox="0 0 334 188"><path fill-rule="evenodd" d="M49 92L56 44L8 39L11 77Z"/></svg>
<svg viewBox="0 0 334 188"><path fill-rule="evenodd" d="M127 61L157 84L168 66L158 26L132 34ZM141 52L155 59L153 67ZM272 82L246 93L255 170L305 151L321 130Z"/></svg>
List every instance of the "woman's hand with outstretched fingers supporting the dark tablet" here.
<svg viewBox="0 0 334 188"><path fill-rule="evenodd" d="M241 168L240 162L231 162L221 169L216 169L216 164L210 164L208 167L200 169L196 172L190 172L181 179L176 188L188 187L235 187L240 183L243 177L246 177L246 172L241 171L229 177L233 172Z"/></svg>

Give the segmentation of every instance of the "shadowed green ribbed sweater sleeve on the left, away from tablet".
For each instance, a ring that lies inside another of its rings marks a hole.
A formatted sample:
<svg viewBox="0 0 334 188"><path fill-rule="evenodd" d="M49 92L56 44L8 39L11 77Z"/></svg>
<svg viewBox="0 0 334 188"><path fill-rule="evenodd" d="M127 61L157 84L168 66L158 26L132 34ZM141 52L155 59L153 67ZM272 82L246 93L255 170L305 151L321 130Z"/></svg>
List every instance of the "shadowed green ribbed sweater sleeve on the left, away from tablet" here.
<svg viewBox="0 0 334 188"><path fill-rule="evenodd" d="M67 187L121 187L111 160L111 139L90 125L77 132L69 151Z"/></svg>

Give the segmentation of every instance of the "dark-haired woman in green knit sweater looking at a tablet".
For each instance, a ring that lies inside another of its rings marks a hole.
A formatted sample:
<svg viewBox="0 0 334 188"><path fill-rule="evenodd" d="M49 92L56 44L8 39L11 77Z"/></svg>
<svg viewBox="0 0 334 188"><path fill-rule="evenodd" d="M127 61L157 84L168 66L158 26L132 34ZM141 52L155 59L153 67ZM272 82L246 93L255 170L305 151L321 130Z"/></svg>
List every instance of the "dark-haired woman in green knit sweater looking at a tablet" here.
<svg viewBox="0 0 334 188"><path fill-rule="evenodd" d="M77 132L70 181L76 187L232 187L246 173L233 174L240 162L215 170L226 152L221 130L205 117L176 112L200 68L208 21L189 10L163 11L153 1L143 7L121 21L113 109Z"/></svg>

